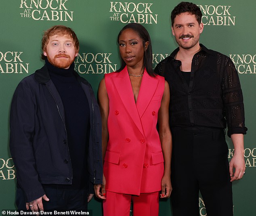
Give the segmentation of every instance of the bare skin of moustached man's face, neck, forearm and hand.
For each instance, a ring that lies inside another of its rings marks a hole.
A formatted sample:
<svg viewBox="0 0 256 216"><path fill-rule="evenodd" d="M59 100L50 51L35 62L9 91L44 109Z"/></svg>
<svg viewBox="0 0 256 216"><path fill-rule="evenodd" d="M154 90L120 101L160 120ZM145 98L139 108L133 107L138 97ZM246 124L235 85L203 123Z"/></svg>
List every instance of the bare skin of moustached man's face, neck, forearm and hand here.
<svg viewBox="0 0 256 216"><path fill-rule="evenodd" d="M181 13L174 19L172 34L179 45L179 51L175 59L181 61L181 71L191 71L191 62L195 53L199 52L199 37L204 29L203 23L198 23L195 15ZM243 134L232 134L231 140L234 145L235 153L229 164L231 182L243 177L246 170L244 161ZM234 172L235 169L235 172Z"/></svg>

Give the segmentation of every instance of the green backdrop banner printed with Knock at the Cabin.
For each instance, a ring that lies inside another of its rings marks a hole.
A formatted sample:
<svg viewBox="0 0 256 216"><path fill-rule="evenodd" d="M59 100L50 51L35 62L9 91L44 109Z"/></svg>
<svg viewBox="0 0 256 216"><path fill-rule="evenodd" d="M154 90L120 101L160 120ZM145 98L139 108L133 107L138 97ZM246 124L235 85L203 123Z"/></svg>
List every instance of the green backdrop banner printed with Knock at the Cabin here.
<svg viewBox="0 0 256 216"><path fill-rule="evenodd" d="M171 33L170 13L179 2L0 0L0 210L15 209L16 173L8 147L10 103L17 84L44 65L44 61L40 59L42 32L52 25L66 25L76 32L80 40L80 50L75 59L75 69L92 84L97 94L99 81L104 73L110 73L120 67L117 36L127 23L141 23L149 31L153 46L153 67L177 47ZM203 14L204 31L200 42L229 56L239 73L248 134L245 136L244 152L246 175L233 183L233 210L235 216L254 215L255 1L195 0L193 3L201 8ZM228 157L231 159L234 149L229 138L227 142ZM89 203L89 209L93 210L94 216L102 215L101 205L96 199ZM206 216L204 200L201 198L199 208L200 215ZM159 215L172 215L170 199L160 201Z"/></svg>

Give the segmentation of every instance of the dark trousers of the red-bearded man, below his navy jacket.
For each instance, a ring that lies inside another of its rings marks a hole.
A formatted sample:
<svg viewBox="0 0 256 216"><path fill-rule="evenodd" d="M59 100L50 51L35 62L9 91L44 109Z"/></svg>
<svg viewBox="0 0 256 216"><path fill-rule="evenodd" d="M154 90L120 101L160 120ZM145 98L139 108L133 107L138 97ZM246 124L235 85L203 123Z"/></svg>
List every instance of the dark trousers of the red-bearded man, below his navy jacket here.
<svg viewBox="0 0 256 216"><path fill-rule="evenodd" d="M43 185L49 201L43 200L44 210L87 210L88 189L67 189L61 185ZM18 210L26 210L26 202L21 188L17 188Z"/></svg>

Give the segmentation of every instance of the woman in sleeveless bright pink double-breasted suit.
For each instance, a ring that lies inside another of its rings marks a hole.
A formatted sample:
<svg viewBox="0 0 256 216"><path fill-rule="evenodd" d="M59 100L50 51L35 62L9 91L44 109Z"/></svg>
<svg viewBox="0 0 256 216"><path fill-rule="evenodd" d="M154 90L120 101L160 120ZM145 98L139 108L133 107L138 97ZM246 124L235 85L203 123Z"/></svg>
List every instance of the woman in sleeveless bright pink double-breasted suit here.
<svg viewBox="0 0 256 216"><path fill-rule="evenodd" d="M126 25L118 43L122 66L99 85L104 175L94 189L104 216L129 216L131 201L134 216L158 216L159 191L165 198L172 190L169 86L153 72L142 25Z"/></svg>

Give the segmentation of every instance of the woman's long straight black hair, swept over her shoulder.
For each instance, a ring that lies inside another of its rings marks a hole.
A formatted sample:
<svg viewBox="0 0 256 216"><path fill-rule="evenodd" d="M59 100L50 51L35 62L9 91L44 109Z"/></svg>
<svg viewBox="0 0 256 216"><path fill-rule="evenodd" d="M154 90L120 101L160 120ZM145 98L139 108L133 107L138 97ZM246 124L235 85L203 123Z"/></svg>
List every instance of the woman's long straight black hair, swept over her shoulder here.
<svg viewBox="0 0 256 216"><path fill-rule="evenodd" d="M138 24L138 23L129 23L129 24L127 24L126 26L124 26L122 28L122 30L118 34L118 44L119 44L119 37L125 29L132 29L133 31L135 31L138 34L138 36L142 39L143 47L145 47L145 43L147 41L149 42L149 45L147 46L147 50L145 50L145 52L144 52L143 67L146 68L147 73L151 77L155 77L155 72L152 69L153 57L152 57L151 39L150 39L150 36L149 36L149 33L148 33L147 29L145 29L145 27L143 25ZM125 66L126 66L126 63L121 58L121 67L120 67L120 69L117 70L117 72L122 71L122 69L124 69Z"/></svg>

